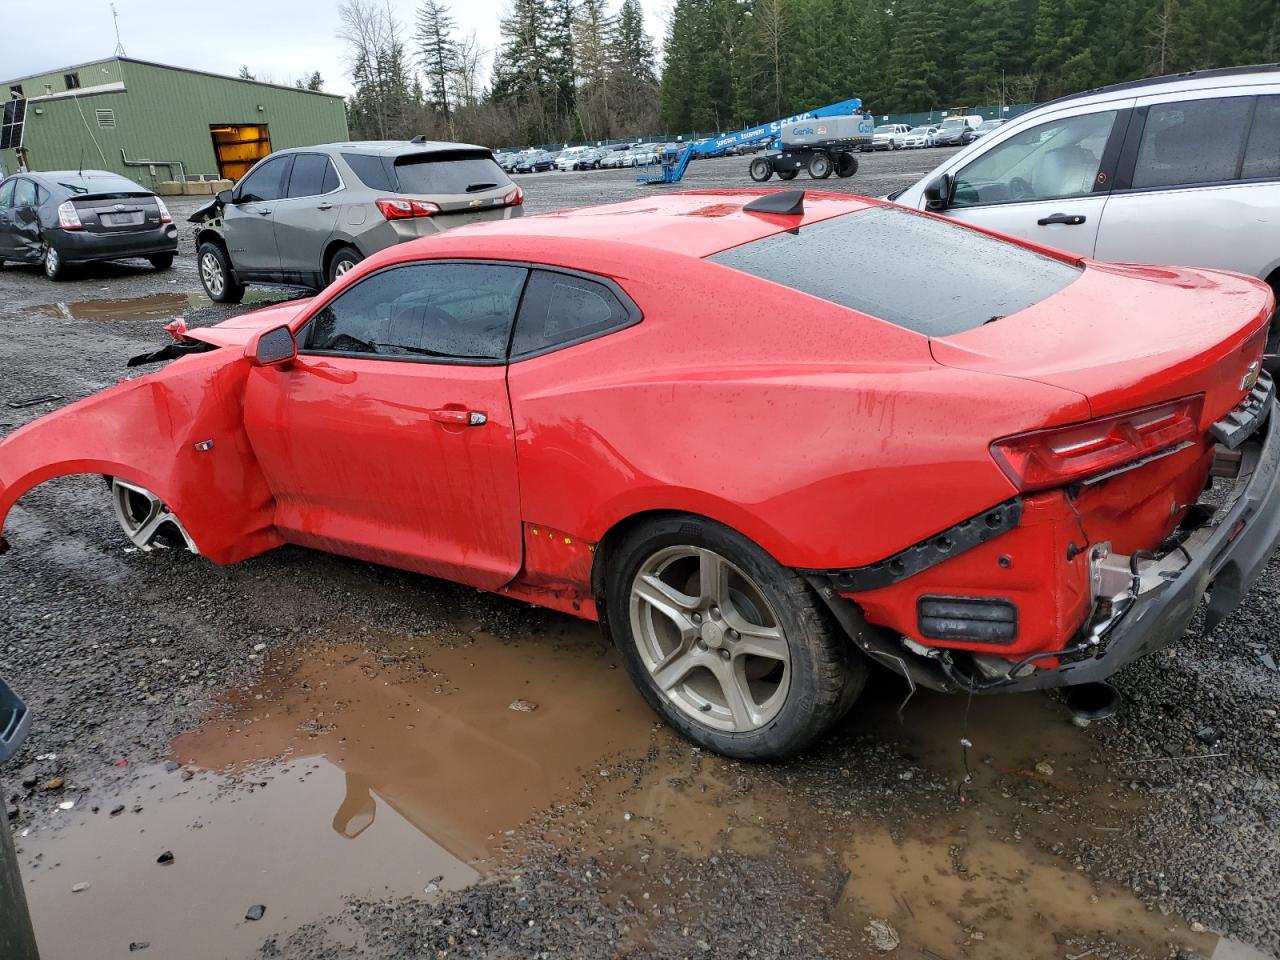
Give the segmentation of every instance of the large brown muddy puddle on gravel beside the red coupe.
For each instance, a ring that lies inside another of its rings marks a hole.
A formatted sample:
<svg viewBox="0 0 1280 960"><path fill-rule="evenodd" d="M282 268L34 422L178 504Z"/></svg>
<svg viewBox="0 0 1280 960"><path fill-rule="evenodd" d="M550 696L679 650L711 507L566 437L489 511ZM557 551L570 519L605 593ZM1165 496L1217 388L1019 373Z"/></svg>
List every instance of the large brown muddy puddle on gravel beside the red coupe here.
<svg viewBox="0 0 1280 960"><path fill-rule="evenodd" d="M173 769L18 838L45 960L90 931L104 956L248 957L344 897L430 900L553 851L604 865L641 954L746 896L794 906L828 956L1252 956L1076 869L1071 841L1119 842L1135 801L1043 696L900 716L886 687L812 756L750 765L655 724L589 625L356 636L265 653ZM730 861L760 890L724 890Z"/></svg>

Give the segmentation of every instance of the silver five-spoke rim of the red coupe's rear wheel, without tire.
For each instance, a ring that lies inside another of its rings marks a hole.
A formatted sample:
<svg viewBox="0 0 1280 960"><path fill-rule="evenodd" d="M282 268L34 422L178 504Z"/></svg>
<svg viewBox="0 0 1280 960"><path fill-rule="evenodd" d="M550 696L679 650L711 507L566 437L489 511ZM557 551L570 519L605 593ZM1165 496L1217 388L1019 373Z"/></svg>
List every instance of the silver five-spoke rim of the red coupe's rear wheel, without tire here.
<svg viewBox="0 0 1280 960"><path fill-rule="evenodd" d="M764 593L714 550L667 547L631 585L631 636L654 684L699 723L745 733L772 721L791 652Z"/></svg>

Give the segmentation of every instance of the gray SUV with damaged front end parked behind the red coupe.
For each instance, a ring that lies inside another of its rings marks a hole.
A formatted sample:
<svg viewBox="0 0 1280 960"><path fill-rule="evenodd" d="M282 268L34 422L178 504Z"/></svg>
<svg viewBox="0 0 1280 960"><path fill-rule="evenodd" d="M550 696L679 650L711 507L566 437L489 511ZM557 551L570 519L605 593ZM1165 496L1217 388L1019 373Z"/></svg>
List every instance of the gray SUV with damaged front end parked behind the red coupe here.
<svg viewBox="0 0 1280 960"><path fill-rule="evenodd" d="M320 289L393 243L520 216L524 201L485 147L367 141L271 154L189 219L205 293L238 303L247 283Z"/></svg>

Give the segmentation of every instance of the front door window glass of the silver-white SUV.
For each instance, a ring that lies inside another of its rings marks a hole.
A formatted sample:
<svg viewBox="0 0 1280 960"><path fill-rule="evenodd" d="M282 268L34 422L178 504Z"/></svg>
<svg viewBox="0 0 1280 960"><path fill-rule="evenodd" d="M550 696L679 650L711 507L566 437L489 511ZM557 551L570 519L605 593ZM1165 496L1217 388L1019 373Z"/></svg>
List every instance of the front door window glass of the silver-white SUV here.
<svg viewBox="0 0 1280 960"><path fill-rule="evenodd" d="M1029 127L956 174L951 206L1062 200L1093 192L1116 111Z"/></svg>

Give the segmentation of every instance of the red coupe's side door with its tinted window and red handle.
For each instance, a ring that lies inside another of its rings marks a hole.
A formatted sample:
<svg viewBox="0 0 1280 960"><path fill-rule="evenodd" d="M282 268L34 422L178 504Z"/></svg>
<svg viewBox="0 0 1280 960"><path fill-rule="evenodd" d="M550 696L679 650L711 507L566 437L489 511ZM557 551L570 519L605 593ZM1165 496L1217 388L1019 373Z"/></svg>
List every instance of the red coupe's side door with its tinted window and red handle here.
<svg viewBox="0 0 1280 960"><path fill-rule="evenodd" d="M507 344L527 270L416 262L321 303L244 422L285 539L494 590L520 570Z"/></svg>

